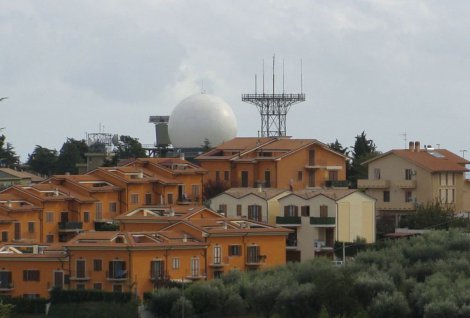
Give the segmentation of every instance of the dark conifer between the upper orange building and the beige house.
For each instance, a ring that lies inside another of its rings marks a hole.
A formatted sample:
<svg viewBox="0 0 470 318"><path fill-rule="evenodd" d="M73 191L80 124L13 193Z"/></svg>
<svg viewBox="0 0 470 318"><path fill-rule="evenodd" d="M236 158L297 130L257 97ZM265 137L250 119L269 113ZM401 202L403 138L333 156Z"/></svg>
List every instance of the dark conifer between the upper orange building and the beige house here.
<svg viewBox="0 0 470 318"><path fill-rule="evenodd" d="M356 136L356 141L352 148L352 162L348 173L348 179L353 188L357 188L358 179L367 179L367 166L362 165L363 162L374 158L380 152L372 139L367 139L366 133L363 131Z"/></svg>

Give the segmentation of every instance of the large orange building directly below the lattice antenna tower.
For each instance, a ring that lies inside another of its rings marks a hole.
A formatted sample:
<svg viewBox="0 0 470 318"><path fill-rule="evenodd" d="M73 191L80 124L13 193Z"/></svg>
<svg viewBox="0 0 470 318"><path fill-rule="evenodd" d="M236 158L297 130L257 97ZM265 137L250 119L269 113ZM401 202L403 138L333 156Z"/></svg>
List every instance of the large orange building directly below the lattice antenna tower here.
<svg viewBox="0 0 470 318"><path fill-rule="evenodd" d="M290 137L238 137L196 157L207 180L291 190L345 186L346 159L318 140Z"/></svg>

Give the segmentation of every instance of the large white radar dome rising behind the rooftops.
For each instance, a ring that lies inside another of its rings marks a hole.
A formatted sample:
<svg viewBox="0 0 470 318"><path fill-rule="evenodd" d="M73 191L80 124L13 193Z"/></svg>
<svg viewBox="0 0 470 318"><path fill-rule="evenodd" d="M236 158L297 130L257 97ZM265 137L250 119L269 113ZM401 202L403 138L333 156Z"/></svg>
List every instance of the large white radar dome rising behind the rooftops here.
<svg viewBox="0 0 470 318"><path fill-rule="evenodd" d="M212 147L235 138L237 120L223 99L196 94L181 101L168 123L170 140L176 148L198 148L207 138Z"/></svg>

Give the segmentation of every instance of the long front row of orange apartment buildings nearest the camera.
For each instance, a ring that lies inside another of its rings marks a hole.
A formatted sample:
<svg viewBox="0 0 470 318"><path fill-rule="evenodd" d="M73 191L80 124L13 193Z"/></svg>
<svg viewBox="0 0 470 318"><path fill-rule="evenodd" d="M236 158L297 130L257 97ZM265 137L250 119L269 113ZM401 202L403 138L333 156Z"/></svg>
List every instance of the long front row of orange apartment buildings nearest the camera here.
<svg viewBox="0 0 470 318"><path fill-rule="evenodd" d="M0 294L47 297L50 288L60 286L131 291L142 297L167 280L212 279L234 269L286 262L290 230L225 218L207 208L172 222L158 231L83 232L55 248L5 245L0 250Z"/></svg>

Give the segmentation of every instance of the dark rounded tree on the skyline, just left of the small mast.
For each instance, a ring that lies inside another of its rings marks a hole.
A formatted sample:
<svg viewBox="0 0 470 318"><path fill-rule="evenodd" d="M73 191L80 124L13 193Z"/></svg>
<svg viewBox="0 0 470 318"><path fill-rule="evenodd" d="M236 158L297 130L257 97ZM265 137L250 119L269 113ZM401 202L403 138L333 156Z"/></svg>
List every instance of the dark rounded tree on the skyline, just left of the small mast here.
<svg viewBox="0 0 470 318"><path fill-rule="evenodd" d="M85 140L67 138L67 141L60 149L55 172L59 174L66 172L77 174L77 164L86 162L85 153L87 152L88 146Z"/></svg>

